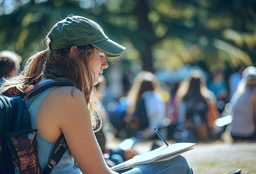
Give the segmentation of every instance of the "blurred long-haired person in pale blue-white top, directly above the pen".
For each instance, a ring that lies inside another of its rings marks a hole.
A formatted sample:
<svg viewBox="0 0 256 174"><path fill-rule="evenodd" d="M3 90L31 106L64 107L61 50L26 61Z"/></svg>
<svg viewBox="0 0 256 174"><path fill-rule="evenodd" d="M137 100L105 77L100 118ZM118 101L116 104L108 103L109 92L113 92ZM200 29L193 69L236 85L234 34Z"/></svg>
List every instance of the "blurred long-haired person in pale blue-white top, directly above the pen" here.
<svg viewBox="0 0 256 174"><path fill-rule="evenodd" d="M141 71L128 91L127 101L124 120L128 133L143 140L152 139L157 135L154 128L160 129L166 118L166 104L161 98L157 77L149 71Z"/></svg>

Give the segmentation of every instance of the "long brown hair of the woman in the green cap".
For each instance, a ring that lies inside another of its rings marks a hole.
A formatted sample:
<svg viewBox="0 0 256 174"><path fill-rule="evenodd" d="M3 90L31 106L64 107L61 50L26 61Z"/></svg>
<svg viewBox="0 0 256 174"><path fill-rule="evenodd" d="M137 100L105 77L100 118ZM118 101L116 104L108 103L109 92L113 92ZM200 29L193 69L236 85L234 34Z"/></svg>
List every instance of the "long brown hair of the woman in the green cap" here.
<svg viewBox="0 0 256 174"><path fill-rule="evenodd" d="M70 48L38 51L32 54L23 71L15 77L4 80L0 91L16 87L21 92L26 92L32 85L36 85L42 77L56 81L65 81L73 84L83 94L90 111L94 131L102 127L100 112L96 106L95 87L93 77L88 66L90 60L97 56L97 48L86 45L79 46L78 52L73 57ZM96 51L94 51L96 50Z"/></svg>

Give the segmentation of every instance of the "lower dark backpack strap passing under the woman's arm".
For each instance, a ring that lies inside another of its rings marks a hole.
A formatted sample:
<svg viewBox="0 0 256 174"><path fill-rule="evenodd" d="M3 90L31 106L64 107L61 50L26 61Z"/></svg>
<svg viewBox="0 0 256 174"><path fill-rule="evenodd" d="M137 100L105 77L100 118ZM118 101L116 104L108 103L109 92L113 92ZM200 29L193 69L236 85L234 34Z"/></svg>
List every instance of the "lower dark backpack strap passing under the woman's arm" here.
<svg viewBox="0 0 256 174"><path fill-rule="evenodd" d="M60 162L61 157L64 155L67 149L67 142L65 140L64 134L62 133L54 148L52 149L52 154L50 155L49 162L43 171L44 174L49 174L52 171L54 165Z"/></svg>

